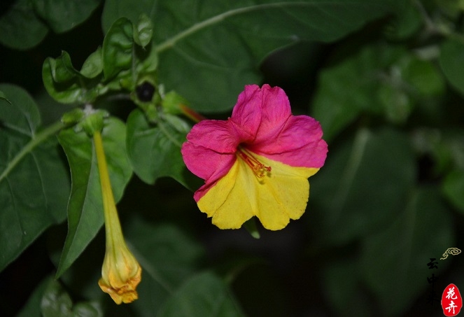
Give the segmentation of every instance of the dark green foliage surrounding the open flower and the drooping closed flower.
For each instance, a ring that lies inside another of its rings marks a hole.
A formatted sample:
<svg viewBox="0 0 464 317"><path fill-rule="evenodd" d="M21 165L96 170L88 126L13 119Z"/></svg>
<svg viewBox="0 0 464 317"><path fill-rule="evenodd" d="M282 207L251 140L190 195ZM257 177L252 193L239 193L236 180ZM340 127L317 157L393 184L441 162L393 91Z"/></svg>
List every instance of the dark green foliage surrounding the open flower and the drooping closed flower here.
<svg viewBox="0 0 464 317"><path fill-rule="evenodd" d="M440 276L439 294L464 287L464 255L438 260L464 248L458 1L16 0L2 9L1 69L32 57L43 83L26 92L29 73L13 85L0 69L0 311L439 316L427 278ZM101 20L87 20L93 12ZM103 29L98 47L87 34L72 38L82 50L59 46L56 34L78 24ZM227 118L244 85L272 72L293 113L321 122L329 153L302 219L280 232L258 227L255 240L197 210L202 181L180 152L195 122L183 107ZM43 127L41 114L62 120ZM122 230L143 267L139 300L120 306L97 285L104 220L91 134L101 125ZM17 277L33 268L30 251L50 260L38 285Z"/></svg>

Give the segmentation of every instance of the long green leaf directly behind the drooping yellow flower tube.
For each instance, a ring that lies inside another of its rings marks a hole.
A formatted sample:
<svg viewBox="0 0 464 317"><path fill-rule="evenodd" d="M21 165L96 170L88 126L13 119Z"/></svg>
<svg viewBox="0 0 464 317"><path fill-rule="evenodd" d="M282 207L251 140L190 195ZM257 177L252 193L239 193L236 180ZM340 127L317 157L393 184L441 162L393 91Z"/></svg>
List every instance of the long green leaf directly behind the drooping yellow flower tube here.
<svg viewBox="0 0 464 317"><path fill-rule="evenodd" d="M132 176L125 151L125 125L109 118L101 133L115 201ZM92 141L85 132L65 129L58 135L71 167L71 196L68 204L68 235L57 269L60 276L83 252L104 223L101 188Z"/></svg>

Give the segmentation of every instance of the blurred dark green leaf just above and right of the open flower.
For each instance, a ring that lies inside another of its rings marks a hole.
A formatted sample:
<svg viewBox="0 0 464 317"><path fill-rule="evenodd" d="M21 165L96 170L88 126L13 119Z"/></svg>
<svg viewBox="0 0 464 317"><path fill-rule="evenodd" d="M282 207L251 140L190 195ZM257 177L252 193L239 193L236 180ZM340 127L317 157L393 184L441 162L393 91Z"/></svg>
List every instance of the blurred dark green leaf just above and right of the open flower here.
<svg viewBox="0 0 464 317"><path fill-rule="evenodd" d="M401 48L384 43L367 45L353 57L320 72L312 114L321 122L325 140L330 142L362 111L382 112L379 88L383 83L390 85L389 68L404 54Z"/></svg>

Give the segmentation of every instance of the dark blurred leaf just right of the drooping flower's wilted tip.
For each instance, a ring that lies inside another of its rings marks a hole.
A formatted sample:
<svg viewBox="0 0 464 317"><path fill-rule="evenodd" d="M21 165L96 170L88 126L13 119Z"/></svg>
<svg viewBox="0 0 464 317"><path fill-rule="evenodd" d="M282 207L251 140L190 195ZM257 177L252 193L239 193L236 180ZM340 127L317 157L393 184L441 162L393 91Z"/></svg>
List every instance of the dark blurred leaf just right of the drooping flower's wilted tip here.
<svg viewBox="0 0 464 317"><path fill-rule="evenodd" d="M139 316L154 316L181 283L196 271L204 248L175 225L153 225L135 218L125 226L131 251L143 268L137 288L139 300L132 304Z"/></svg>

